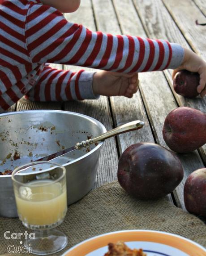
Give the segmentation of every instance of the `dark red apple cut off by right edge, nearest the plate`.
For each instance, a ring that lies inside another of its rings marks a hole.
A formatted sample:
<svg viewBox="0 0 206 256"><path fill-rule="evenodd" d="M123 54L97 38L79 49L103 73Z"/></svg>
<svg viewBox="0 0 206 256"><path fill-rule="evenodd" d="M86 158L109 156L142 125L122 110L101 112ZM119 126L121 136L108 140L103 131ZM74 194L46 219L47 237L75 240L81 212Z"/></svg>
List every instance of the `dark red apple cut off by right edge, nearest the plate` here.
<svg viewBox="0 0 206 256"><path fill-rule="evenodd" d="M206 217L206 168L193 171L184 187L186 209L199 216Z"/></svg>

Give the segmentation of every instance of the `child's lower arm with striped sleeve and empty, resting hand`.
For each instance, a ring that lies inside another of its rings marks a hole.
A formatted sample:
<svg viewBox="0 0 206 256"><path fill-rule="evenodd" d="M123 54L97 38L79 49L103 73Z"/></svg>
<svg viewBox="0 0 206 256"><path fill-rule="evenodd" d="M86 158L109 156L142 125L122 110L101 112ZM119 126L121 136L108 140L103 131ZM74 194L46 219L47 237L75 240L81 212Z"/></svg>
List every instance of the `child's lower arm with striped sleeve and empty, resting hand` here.
<svg viewBox="0 0 206 256"><path fill-rule="evenodd" d="M99 94L132 98L137 90L137 73L72 72L46 66L26 97L34 101L98 99Z"/></svg>

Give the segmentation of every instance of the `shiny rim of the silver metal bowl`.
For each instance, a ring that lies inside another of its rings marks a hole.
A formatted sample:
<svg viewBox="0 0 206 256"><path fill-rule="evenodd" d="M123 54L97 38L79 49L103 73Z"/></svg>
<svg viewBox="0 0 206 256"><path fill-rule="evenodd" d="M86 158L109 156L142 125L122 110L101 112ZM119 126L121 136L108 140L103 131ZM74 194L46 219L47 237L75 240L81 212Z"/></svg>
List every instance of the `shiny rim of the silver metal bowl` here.
<svg viewBox="0 0 206 256"><path fill-rule="evenodd" d="M103 130L103 133L107 131L107 129L105 128L105 126L100 122L98 121L97 119L93 118L93 117L89 117L87 115L84 115L84 114L80 114L80 113L77 113L77 112L72 112L72 111L66 111L66 110L51 110L51 109L37 109L37 110L25 110L25 111L17 111L17 112L6 112L6 113L1 113L0 114L0 117L3 117L3 116L11 116L11 115L18 115L18 114L24 114L24 113L37 113L37 112L47 112L47 113L64 113L64 114L71 114L71 115L74 115L74 116L79 116L79 117L83 117L83 118L86 118L87 120L90 120L92 122L94 122L96 125L99 126L99 128L102 128ZM78 157L77 159L73 160L72 162L69 162L69 163L65 163L63 164L62 166L68 166L70 164L73 164L79 160L82 160L83 158L86 158L88 156L90 156L90 154L94 153L94 151L98 150L102 144L104 143L104 141L101 141L95 148L93 148L90 152L87 152L86 154L84 154L82 157ZM52 161L51 161L52 162ZM6 174L6 175L0 175L0 178L3 178L3 177L11 177L12 175L11 174Z"/></svg>

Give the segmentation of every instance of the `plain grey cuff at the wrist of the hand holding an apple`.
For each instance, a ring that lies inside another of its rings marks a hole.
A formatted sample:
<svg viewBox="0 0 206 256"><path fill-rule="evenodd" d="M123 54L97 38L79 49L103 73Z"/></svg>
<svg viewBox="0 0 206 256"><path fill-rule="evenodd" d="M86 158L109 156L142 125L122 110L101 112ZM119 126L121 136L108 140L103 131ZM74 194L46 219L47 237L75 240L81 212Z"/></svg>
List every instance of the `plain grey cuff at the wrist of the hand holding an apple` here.
<svg viewBox="0 0 206 256"><path fill-rule="evenodd" d="M180 67L183 62L185 50L181 45L170 43L172 47L172 58L167 68L175 69Z"/></svg>

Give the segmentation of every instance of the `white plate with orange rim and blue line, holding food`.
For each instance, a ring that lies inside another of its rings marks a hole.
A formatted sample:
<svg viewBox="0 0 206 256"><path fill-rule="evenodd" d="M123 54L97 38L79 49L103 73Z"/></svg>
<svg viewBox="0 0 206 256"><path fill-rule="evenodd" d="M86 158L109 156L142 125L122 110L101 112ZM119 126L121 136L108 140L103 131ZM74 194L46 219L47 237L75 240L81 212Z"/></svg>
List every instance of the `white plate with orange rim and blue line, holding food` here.
<svg viewBox="0 0 206 256"><path fill-rule="evenodd" d="M147 256L206 256L206 249L187 238L153 230L122 230L102 234L75 245L62 256L104 256L108 243L123 241Z"/></svg>

